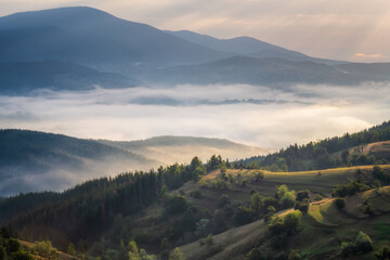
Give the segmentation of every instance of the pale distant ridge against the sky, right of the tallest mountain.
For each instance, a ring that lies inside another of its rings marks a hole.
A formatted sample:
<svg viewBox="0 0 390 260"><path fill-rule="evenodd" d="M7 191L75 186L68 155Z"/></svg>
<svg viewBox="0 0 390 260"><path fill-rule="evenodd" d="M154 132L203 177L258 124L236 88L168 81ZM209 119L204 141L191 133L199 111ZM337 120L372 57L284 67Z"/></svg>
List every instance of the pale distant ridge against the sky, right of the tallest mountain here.
<svg viewBox="0 0 390 260"><path fill-rule="evenodd" d="M224 52L244 54L251 57L258 57L258 58L274 57L274 58L283 58L294 62L312 61L312 62L318 62L325 64L340 63L337 61L311 57L303 53L290 51L274 44L270 44L264 41L260 41L251 37L217 39L211 36L196 34L190 30L179 30L179 31L167 30L167 32L178 36L187 41L197 43L199 46L205 46Z"/></svg>

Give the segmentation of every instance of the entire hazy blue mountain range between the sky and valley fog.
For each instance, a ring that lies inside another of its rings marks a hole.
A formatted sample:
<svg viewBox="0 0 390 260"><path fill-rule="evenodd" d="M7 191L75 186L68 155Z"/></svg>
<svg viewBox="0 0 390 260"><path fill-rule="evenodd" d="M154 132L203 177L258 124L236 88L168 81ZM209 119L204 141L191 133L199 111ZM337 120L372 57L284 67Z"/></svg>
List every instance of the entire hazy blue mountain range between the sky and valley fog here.
<svg viewBox="0 0 390 260"><path fill-rule="evenodd" d="M172 83L351 86L390 75L389 64L316 58L250 37L164 31L82 6L0 17L0 63L2 94Z"/></svg>

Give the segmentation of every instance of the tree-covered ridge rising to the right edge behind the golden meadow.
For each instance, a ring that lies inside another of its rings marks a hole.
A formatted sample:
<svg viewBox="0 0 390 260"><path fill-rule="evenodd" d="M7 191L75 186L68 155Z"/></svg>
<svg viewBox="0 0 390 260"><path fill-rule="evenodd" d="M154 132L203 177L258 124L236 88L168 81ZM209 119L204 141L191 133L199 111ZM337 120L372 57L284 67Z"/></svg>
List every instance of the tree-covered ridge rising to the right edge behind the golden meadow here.
<svg viewBox="0 0 390 260"><path fill-rule="evenodd" d="M282 148L278 153L265 157L253 157L244 161L246 167L258 164L261 168L272 171L300 171L309 169L326 169L352 165L376 164L378 160L373 156L363 154L350 155L348 150L362 144L390 140L390 121L380 126L356 132L346 133L342 136L325 139L318 142L310 142L306 145L290 145ZM340 152L339 157L329 154ZM350 158L352 157L352 158ZM310 164L307 164L310 161ZM379 158L380 161L380 158Z"/></svg>

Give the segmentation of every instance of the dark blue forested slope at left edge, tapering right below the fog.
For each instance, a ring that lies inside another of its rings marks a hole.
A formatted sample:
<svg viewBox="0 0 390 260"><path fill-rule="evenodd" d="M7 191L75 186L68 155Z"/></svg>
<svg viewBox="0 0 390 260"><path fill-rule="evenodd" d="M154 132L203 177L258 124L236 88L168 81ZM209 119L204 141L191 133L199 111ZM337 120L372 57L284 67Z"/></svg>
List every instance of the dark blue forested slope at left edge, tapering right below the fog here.
<svg viewBox="0 0 390 260"><path fill-rule="evenodd" d="M92 178L160 165L95 141L25 130L0 130L0 195L60 191Z"/></svg>

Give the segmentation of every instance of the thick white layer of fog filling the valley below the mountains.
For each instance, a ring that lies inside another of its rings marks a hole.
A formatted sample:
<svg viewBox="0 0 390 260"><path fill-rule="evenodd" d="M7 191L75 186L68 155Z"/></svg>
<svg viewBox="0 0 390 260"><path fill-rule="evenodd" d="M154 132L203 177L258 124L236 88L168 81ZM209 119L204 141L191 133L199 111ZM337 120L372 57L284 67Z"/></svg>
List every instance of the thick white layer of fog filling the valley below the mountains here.
<svg viewBox="0 0 390 260"><path fill-rule="evenodd" d="M155 135L223 138L280 148L389 120L390 88L253 86L96 88L0 96L1 128L31 129L87 139L136 140Z"/></svg>

